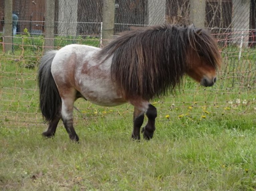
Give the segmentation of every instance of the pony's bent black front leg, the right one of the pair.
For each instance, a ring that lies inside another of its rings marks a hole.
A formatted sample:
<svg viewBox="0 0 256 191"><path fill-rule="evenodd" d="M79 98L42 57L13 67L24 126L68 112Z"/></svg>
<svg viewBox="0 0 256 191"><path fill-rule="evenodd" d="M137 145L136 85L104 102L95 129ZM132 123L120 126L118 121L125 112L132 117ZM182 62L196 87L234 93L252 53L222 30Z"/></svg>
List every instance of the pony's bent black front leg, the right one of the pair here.
<svg viewBox="0 0 256 191"><path fill-rule="evenodd" d="M141 132L143 133L143 138L149 140L153 137L155 131L155 118L157 116L156 108L149 104L146 115L148 117L148 122L146 126L142 128Z"/></svg>

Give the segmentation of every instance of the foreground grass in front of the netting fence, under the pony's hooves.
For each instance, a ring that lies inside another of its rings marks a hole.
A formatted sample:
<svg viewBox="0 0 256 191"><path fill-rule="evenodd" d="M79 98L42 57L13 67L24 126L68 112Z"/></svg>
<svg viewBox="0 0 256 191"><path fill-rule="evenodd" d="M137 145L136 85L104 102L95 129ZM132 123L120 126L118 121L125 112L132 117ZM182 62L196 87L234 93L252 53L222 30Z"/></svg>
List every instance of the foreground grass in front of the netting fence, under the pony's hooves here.
<svg viewBox="0 0 256 191"><path fill-rule="evenodd" d="M96 123L96 122L95 122ZM128 120L63 127L43 140L37 128L1 128L3 190L254 190L255 130L227 123L157 123L155 137L130 139ZM118 126L117 124L118 123ZM211 126L209 126L211 124ZM95 128L96 126L96 128ZM97 129L97 126L101 130ZM112 127L112 128L109 128ZM231 127L231 128L230 128ZM171 131L171 132L170 132Z"/></svg>

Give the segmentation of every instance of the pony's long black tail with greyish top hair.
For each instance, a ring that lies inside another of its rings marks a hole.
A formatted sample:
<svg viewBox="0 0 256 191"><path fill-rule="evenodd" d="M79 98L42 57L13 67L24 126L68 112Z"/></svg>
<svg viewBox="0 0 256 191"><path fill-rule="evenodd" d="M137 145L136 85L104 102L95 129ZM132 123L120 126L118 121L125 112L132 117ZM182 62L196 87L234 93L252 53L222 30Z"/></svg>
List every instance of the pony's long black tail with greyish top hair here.
<svg viewBox="0 0 256 191"><path fill-rule="evenodd" d="M42 58L38 70L40 109L46 121L52 121L61 105L61 98L51 74L51 63L57 51L49 51Z"/></svg>

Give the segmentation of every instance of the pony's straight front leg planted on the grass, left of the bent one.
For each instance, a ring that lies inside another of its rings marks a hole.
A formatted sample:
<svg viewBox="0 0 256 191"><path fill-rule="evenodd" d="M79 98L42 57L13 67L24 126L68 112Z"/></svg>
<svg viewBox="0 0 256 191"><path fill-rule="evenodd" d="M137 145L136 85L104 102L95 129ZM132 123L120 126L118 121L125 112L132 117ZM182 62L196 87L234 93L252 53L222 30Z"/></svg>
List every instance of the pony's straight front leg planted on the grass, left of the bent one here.
<svg viewBox="0 0 256 191"><path fill-rule="evenodd" d="M140 127L143 124L144 111L134 107L132 138L140 140Z"/></svg>

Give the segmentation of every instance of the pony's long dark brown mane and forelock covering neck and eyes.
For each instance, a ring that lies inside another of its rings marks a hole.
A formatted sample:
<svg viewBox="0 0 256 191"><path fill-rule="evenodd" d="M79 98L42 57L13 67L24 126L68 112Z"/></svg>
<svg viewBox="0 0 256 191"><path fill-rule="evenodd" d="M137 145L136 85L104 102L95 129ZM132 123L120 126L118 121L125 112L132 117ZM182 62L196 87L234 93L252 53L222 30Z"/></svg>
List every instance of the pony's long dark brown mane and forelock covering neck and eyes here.
<svg viewBox="0 0 256 191"><path fill-rule="evenodd" d="M194 26L135 28L123 32L98 56L113 56L111 78L125 98L140 96L149 100L179 87L188 68L188 50L203 54L216 69L220 65L215 39L208 31Z"/></svg>

